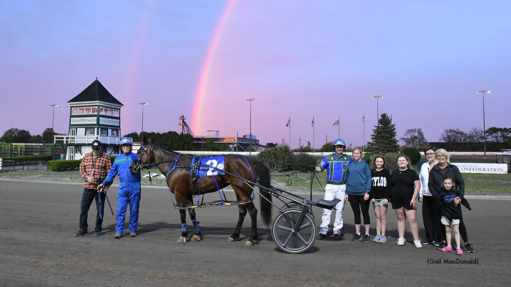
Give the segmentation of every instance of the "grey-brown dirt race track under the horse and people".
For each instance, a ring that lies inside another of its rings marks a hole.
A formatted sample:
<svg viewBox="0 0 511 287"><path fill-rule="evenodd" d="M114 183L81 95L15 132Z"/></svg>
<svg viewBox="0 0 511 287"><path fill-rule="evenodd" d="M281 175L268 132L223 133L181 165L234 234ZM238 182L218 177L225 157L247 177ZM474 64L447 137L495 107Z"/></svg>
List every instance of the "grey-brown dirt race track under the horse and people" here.
<svg viewBox="0 0 511 287"><path fill-rule="evenodd" d="M238 217L236 207L199 209L203 241L178 243L178 211L168 189L161 187L143 187L137 237L113 238L115 218L108 206L104 233L94 237L94 203L89 234L75 237L82 191L76 183L0 179L1 286L507 286L511 278L509 198L469 199L472 210L463 209L463 216L476 253L458 256L431 245L416 249L408 225L407 244L397 246L392 209L387 213L386 244L352 242L353 212L348 205L342 241L329 236L307 253L286 254L261 224L257 244L244 245L248 215L241 241L228 242ZM108 195L115 212L117 188L112 186ZM256 204L259 208L259 199ZM420 210L417 218L424 236ZM321 212L314 209L318 226ZM370 213L374 236L374 212Z"/></svg>

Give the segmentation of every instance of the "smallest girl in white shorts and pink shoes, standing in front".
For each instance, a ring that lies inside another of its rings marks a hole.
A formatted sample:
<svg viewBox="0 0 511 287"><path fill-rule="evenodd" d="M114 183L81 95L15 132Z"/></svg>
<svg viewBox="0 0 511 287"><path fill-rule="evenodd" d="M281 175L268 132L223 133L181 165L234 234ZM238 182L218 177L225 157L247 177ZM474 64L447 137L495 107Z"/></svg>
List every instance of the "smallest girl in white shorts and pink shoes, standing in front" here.
<svg viewBox="0 0 511 287"><path fill-rule="evenodd" d="M442 210L442 223L446 226L446 239L447 246L442 248L443 252L452 251L451 246L451 225L454 230L454 236L456 238L456 254L463 255L459 245L459 211L458 203L461 201L454 184L450 176L444 177L442 180L442 188L440 189L440 210Z"/></svg>

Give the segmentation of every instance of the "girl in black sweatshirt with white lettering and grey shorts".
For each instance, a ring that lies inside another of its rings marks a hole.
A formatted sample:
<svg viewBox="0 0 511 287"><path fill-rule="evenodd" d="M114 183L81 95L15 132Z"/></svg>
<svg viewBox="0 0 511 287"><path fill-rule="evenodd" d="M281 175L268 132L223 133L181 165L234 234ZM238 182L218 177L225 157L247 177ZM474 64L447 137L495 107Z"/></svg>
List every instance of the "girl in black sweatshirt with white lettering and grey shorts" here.
<svg viewBox="0 0 511 287"><path fill-rule="evenodd" d="M390 200L390 172L384 168L385 158L377 155L373 161L373 170L371 170L371 192L369 198L373 203L376 217L376 236L373 242L385 243L385 229L387 228L387 207Z"/></svg>

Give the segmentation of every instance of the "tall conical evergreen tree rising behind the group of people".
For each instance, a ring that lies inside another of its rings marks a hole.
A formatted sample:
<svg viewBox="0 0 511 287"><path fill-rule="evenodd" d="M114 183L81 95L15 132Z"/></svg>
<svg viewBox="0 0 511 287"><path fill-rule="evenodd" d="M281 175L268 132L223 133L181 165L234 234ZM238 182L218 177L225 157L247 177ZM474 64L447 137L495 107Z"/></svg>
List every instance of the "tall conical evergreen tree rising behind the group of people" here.
<svg viewBox="0 0 511 287"><path fill-rule="evenodd" d="M382 113L378 119L378 126L373 129L372 142L368 142L368 148L382 154L399 152L396 135L396 125L392 124L392 120L386 113Z"/></svg>

